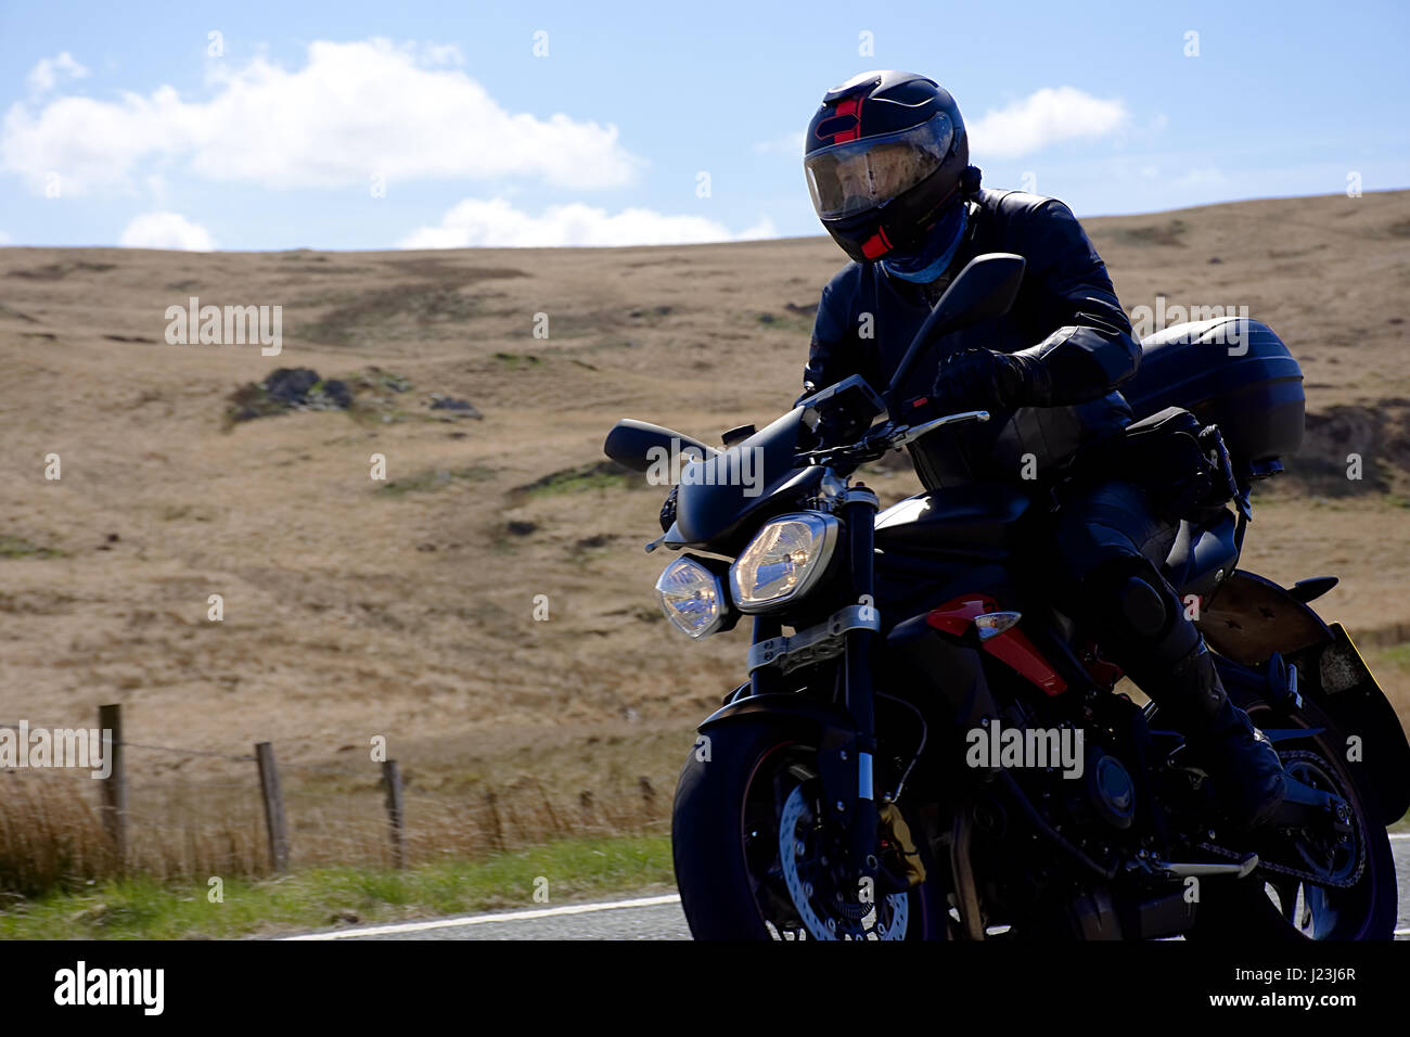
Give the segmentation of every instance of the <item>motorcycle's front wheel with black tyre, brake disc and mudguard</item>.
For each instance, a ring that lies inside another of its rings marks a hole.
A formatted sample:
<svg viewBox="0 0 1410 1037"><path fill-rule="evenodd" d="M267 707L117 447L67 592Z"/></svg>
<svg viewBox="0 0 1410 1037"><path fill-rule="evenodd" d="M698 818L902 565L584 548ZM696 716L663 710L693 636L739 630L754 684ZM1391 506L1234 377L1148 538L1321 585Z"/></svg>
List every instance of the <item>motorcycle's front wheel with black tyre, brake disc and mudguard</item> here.
<svg viewBox="0 0 1410 1037"><path fill-rule="evenodd" d="M943 938L931 883L867 896L842 875L846 832L822 803L818 735L802 718L735 721L687 758L671 851L692 935L919 940L938 928Z"/></svg>

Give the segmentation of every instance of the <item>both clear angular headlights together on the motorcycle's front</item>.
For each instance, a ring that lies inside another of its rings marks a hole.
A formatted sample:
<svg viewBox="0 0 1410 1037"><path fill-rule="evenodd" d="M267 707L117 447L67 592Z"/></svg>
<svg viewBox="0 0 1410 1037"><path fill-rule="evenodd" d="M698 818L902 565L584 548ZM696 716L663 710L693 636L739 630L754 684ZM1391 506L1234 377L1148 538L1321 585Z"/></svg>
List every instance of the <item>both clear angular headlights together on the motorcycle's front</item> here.
<svg viewBox="0 0 1410 1037"><path fill-rule="evenodd" d="M729 567L729 594L715 571L682 556L656 581L661 611L677 629L704 638L725 625L730 602L740 612L767 612L807 594L826 571L842 523L799 512L767 523Z"/></svg>

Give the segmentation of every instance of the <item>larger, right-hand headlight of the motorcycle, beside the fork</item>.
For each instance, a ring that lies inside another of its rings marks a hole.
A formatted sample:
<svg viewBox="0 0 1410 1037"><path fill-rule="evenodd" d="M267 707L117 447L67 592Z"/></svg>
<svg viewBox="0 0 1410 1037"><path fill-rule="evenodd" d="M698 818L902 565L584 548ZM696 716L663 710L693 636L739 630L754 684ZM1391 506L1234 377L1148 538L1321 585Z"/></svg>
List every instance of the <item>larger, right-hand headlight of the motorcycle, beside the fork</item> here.
<svg viewBox="0 0 1410 1037"><path fill-rule="evenodd" d="M842 523L832 515L799 512L774 519L729 567L729 588L740 612L763 612L801 597L828 567Z"/></svg>

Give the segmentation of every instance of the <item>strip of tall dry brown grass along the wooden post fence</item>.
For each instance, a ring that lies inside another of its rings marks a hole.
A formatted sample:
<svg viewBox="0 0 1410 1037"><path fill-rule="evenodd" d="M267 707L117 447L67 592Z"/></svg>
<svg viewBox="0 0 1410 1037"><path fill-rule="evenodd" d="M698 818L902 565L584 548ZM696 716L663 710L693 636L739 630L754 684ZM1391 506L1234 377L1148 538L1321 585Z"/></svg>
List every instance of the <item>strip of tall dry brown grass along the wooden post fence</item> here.
<svg viewBox="0 0 1410 1037"><path fill-rule="evenodd" d="M92 880L144 875L159 880L272 873L264 804L250 780L134 783L128 792L125 861L103 827L99 783L86 773L0 773L0 893L38 896ZM285 787L289 865L389 868L393 863L385 789L369 775L293 775ZM285 780L288 780L288 777ZM336 790L334 790L336 789ZM556 838L663 834L670 790L642 776L636 787L551 793L522 775L467 794L407 793L403 861L475 861Z"/></svg>

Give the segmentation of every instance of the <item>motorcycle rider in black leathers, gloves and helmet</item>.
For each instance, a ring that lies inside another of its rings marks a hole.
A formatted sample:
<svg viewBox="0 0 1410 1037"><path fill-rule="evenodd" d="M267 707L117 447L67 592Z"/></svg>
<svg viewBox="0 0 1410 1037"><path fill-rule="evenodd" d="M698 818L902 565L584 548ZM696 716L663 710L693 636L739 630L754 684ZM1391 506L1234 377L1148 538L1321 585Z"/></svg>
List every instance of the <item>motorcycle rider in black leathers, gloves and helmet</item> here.
<svg viewBox="0 0 1410 1037"><path fill-rule="evenodd" d="M805 396L852 374L885 385L955 274L1004 251L1026 260L1010 313L949 336L938 367L916 365L898 394L915 413L993 413L912 444L925 487L1032 488L1035 471L1050 485L1079 447L1129 423L1117 387L1135 372L1141 346L1101 257L1062 202L980 188L959 107L938 83L883 71L829 90L808 126L804 166L818 217L852 258L822 291ZM1285 796L1283 769L1230 701L1160 573L1176 530L1151 490L1112 473L1067 492L1053 528L1053 598L1186 736L1231 820L1258 825Z"/></svg>

